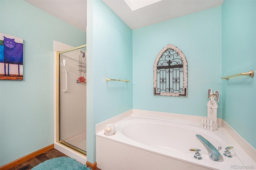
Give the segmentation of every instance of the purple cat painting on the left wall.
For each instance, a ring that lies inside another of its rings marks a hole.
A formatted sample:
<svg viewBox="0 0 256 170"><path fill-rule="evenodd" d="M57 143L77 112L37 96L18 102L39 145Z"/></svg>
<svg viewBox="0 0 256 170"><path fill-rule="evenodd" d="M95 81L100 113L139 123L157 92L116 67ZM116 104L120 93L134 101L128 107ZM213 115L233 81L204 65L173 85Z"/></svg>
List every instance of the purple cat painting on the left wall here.
<svg viewBox="0 0 256 170"><path fill-rule="evenodd" d="M0 80L23 80L23 39L0 33Z"/></svg>

